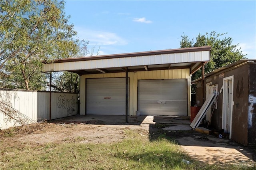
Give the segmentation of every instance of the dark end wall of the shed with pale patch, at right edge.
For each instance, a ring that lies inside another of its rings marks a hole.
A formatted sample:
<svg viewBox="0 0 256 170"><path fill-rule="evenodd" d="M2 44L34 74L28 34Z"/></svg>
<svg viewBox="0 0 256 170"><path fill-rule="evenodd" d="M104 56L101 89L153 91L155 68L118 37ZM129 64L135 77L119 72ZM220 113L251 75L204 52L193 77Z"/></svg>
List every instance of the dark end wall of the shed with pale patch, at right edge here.
<svg viewBox="0 0 256 170"><path fill-rule="evenodd" d="M248 144L256 144L256 64L249 64Z"/></svg>

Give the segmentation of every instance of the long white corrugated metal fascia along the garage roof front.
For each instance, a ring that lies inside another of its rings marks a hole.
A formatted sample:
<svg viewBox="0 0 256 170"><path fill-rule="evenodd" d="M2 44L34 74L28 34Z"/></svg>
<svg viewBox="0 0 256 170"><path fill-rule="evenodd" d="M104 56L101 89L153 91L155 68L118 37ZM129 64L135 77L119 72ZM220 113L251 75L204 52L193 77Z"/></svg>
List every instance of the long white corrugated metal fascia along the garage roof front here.
<svg viewBox="0 0 256 170"><path fill-rule="evenodd" d="M209 51L171 53L161 55L145 55L137 57L120 57L110 59L94 59L88 61L72 61L66 63L48 63L43 65L44 71L68 71L83 69L102 69L114 67L130 67L138 65L157 65L169 63L187 63L209 61Z"/></svg>

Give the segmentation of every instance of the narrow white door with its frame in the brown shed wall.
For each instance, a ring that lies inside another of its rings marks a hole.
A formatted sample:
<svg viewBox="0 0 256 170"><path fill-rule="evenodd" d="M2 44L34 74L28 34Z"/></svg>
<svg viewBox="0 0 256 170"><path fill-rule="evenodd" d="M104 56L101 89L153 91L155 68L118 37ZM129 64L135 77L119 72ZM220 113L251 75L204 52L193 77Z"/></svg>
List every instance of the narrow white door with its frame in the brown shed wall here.
<svg viewBox="0 0 256 170"><path fill-rule="evenodd" d="M222 128L225 133L232 132L232 110L233 110L233 87L234 76L223 79L223 106L222 106Z"/></svg>

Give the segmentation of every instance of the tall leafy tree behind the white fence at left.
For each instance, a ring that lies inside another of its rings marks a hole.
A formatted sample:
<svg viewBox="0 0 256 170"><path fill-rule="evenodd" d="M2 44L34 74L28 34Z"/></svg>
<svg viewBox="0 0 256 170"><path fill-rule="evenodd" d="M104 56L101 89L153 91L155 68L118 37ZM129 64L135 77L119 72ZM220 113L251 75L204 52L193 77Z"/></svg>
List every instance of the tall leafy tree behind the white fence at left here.
<svg viewBox="0 0 256 170"><path fill-rule="evenodd" d="M41 61L72 57L78 52L69 18L63 1L0 1L0 86L44 88Z"/></svg>

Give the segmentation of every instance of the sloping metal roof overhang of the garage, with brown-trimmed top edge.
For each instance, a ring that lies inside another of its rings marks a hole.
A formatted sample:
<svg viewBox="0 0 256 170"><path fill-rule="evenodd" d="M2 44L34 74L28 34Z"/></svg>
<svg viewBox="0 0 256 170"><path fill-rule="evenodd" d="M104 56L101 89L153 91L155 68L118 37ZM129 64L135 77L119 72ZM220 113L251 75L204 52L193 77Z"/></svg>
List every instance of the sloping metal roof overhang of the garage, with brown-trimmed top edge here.
<svg viewBox="0 0 256 170"><path fill-rule="evenodd" d="M190 69L196 72L210 61L210 46L100 55L42 61L43 72L69 71L73 73L97 74L166 69Z"/></svg>

